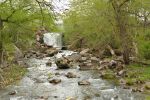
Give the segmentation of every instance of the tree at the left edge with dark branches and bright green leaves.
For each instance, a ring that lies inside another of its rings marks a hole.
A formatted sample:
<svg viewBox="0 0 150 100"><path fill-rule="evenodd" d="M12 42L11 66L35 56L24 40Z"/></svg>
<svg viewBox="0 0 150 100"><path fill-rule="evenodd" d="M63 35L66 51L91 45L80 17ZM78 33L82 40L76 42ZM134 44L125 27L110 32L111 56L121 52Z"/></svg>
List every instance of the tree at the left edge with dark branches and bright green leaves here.
<svg viewBox="0 0 150 100"><path fill-rule="evenodd" d="M49 2L44 0L1 1L0 64L2 64L3 60L4 41L13 42L13 37L16 37L17 33L26 35L27 30L33 33L38 26L46 26L51 29L54 28L53 14Z"/></svg>

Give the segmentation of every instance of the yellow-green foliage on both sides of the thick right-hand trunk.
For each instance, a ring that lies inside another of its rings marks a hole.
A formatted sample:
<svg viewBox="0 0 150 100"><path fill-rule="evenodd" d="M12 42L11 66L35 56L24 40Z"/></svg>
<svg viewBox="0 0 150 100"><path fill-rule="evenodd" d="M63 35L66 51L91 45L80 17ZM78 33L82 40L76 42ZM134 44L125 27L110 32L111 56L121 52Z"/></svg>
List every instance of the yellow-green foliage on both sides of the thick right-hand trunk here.
<svg viewBox="0 0 150 100"><path fill-rule="evenodd" d="M123 0L73 0L71 9L64 16L65 40L71 43L72 40L83 37L86 39L85 44L90 48L105 49L106 45L110 45L112 48L121 49L122 39L118 34L118 24L112 6L114 1L119 4L123 2ZM150 57L150 31L149 26L144 26L143 21L144 17L150 18L148 2L148 0L125 2L121 9L125 15L122 16L122 20L126 20L125 27L128 38L131 39L130 44L133 41L138 44L138 55L145 59ZM132 45L129 47L135 49Z"/></svg>

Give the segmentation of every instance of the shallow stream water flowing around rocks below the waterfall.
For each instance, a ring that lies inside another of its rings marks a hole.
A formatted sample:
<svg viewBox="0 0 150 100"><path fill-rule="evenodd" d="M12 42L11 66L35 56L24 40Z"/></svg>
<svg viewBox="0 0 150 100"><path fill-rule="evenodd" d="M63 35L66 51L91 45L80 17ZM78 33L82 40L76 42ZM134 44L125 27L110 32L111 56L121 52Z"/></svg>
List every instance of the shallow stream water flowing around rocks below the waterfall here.
<svg viewBox="0 0 150 100"><path fill-rule="evenodd" d="M145 100L142 94L102 80L96 70L80 71L78 66L58 70L55 60L72 53L74 52L61 51L54 57L27 59L27 75L16 85L0 90L0 100ZM52 65L46 66L49 61ZM75 73L78 77L67 78L67 72ZM61 83L51 84L49 78L61 79ZM91 84L80 86L78 81L81 80L88 80ZM9 95L12 91L16 94Z"/></svg>

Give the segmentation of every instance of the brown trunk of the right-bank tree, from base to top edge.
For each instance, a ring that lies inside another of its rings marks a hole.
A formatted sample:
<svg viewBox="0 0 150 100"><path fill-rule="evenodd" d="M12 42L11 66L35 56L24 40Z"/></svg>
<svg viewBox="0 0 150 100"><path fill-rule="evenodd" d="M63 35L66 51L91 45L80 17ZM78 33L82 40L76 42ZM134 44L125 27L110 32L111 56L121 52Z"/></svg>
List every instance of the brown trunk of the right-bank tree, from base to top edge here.
<svg viewBox="0 0 150 100"><path fill-rule="evenodd" d="M117 30L120 36L122 49L123 49L123 60L125 64L129 64L130 56L130 45L132 44L129 33L127 32L126 25L128 24L128 14L126 10L128 9L128 3L130 0L111 0L112 7L114 9L115 20L117 24Z"/></svg>

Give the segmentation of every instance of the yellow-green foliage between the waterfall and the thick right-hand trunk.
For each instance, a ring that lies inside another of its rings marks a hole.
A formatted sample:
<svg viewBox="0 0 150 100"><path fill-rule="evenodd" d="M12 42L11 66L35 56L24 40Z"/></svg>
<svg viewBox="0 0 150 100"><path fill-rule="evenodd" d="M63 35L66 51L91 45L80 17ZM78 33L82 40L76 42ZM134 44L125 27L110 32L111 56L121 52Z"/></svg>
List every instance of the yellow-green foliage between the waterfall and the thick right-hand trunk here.
<svg viewBox="0 0 150 100"><path fill-rule="evenodd" d="M79 35L87 39L88 46L111 44L111 37L114 36L110 18L106 14L107 2L87 0L80 3L79 1L73 2L72 9L64 18L66 40L71 41Z"/></svg>

